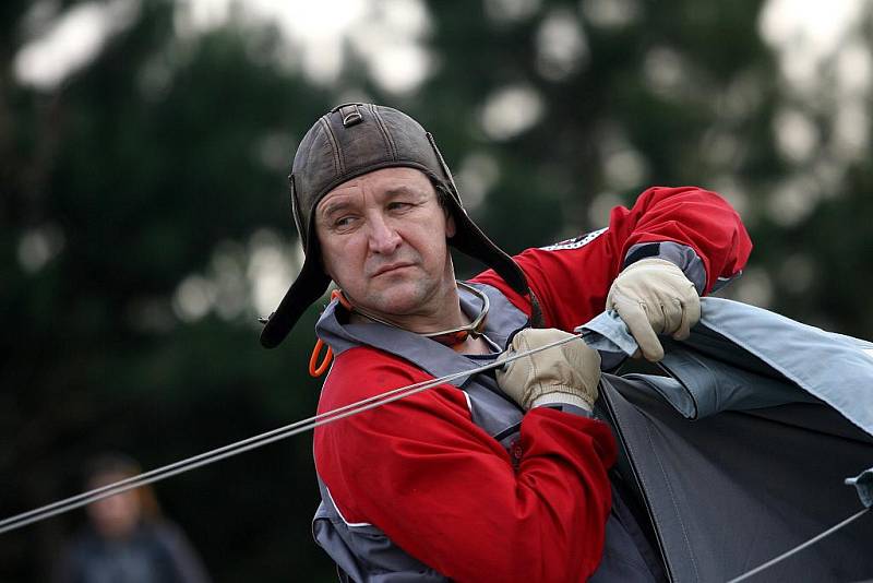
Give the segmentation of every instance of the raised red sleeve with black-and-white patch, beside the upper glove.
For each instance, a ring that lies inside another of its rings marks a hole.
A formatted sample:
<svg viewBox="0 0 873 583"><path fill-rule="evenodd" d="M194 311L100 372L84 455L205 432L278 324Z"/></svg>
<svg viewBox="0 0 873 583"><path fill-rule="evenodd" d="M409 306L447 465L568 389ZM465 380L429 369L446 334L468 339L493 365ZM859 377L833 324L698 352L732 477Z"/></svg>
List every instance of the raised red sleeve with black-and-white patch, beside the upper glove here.
<svg viewBox="0 0 873 583"><path fill-rule="evenodd" d="M679 265L701 295L740 275L752 241L718 194L693 187L650 188L631 209L617 206L599 231L514 259L525 272L546 325L572 330L603 311L612 281L627 264L657 257ZM489 270L474 278L501 289L530 313L530 300Z"/></svg>

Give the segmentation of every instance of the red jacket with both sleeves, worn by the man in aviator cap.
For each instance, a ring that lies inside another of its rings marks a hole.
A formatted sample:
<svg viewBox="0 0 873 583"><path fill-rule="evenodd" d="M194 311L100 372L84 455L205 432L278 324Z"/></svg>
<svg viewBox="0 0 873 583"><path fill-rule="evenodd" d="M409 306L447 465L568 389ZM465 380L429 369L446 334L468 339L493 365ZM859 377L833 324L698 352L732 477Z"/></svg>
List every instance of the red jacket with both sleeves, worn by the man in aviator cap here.
<svg viewBox="0 0 873 583"><path fill-rule="evenodd" d="M603 310L632 246L661 241L696 252L706 290L737 275L751 251L739 216L718 195L654 188L633 209L614 209L609 227L584 245L515 259L546 325L572 330ZM529 299L493 271L474 281L530 314ZM352 348L335 360L319 413L430 378L375 348ZM600 561L610 509L615 445L608 428L537 408L507 452L471 420L465 398L446 384L316 428L316 469L344 520L378 526L455 581L586 580Z"/></svg>

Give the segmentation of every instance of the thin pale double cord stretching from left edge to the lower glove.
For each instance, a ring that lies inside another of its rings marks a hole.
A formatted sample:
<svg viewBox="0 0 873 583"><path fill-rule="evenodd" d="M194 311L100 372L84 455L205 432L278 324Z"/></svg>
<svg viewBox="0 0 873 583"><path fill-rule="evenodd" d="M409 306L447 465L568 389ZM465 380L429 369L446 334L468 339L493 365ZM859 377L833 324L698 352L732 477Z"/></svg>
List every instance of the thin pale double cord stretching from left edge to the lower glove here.
<svg viewBox="0 0 873 583"><path fill-rule="evenodd" d="M217 448L215 450L211 450L194 455L192 457L180 460L178 462L174 462L163 467L158 467L156 469L152 469L150 472L145 472L136 476L131 476L129 478L115 481L112 484L107 484L106 486L87 490L80 495L72 496L70 498L65 498L63 500L59 500L57 502L52 502L50 504L36 508L34 510L29 510L27 512L23 512L14 516L10 516L8 519L3 519L2 521L0 521L0 534L8 533L16 528L21 528L22 526L26 526L27 524L32 524L34 522L56 516L64 512L69 512L76 508L81 508L92 502L96 502L97 500L103 500L104 498L108 498L117 493L132 490L133 488L137 488L140 486L145 486L146 484L154 484L162 479L166 479L168 477L176 476L178 474L182 474L184 472L189 472L191 469L195 469L198 467L212 464L219 460L224 460L226 457L230 457L232 455L237 455L247 452L249 450L253 450L255 448L273 443L274 441L278 441L282 439L289 438L291 436L296 436L298 433L302 433L304 431L309 431L310 429L314 429L315 427L326 425L328 423L333 423L339 419L345 419L346 417L351 417L352 415L357 415L358 413L363 413L366 411L375 408L380 405L385 405L387 403L398 401L406 396L414 395L422 391L427 391L428 389L439 386L441 384L459 379L462 377L469 377L471 374L478 374L480 372L485 372L486 370L490 370L492 368L502 367L503 365L512 362L513 360L517 360L519 358L530 356L541 350L547 350L549 348L566 344L567 342L579 337L582 337L582 333L561 338L559 341L546 344L543 346L539 346L537 348L531 348L529 350L515 353L499 361L489 362L487 365L482 365L480 367L476 367L469 370L462 370L459 372L446 374L445 377L440 377L439 379L421 381L406 386L400 386L398 389L393 389L391 391L386 391L384 393L380 393L378 395L362 398L355 403L350 403L348 405L344 405L342 407L319 415L314 415L307 419L301 419L299 421L279 427L277 429L273 429L271 431L266 431L264 433L260 433L258 436L243 439L230 443L228 445L224 445L222 448Z"/></svg>

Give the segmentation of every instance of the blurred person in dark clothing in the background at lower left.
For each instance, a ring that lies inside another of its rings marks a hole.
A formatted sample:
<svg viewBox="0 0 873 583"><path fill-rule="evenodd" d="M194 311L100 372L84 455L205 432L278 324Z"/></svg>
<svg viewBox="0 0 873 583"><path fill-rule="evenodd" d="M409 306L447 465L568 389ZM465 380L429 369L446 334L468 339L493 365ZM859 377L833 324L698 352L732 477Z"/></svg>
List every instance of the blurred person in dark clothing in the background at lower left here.
<svg viewBox="0 0 873 583"><path fill-rule="evenodd" d="M91 490L142 473L120 454L94 459L85 475ZM57 583L206 583L210 578L181 530L160 514L150 486L86 507L87 524L63 551Z"/></svg>

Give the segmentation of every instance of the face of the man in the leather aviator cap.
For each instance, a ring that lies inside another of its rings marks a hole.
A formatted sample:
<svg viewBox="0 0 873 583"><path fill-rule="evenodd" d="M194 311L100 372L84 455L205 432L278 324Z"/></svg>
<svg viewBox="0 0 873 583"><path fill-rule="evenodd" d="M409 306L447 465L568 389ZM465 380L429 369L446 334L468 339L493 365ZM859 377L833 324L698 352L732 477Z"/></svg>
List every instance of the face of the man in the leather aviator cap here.
<svg viewBox="0 0 873 583"><path fill-rule="evenodd" d="M324 269L355 306L395 323L435 313L455 289L445 241L455 225L446 214L414 168L343 182L315 209Z"/></svg>

